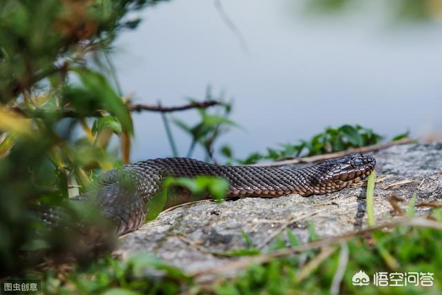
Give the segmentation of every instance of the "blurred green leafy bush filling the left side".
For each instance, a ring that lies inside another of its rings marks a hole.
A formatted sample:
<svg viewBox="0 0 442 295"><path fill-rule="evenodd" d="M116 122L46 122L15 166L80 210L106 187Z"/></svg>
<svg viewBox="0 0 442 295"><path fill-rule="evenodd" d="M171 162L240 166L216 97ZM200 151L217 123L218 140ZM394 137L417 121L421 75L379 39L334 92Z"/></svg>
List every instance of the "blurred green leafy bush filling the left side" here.
<svg viewBox="0 0 442 295"><path fill-rule="evenodd" d="M39 262L25 249L61 254L79 245L75 233L41 224L39 209L75 196L98 170L121 164L107 151L113 134L126 139L128 159L131 114L103 74L112 68L104 57L117 32L136 27L130 12L157 2L1 1L0 274Z"/></svg>

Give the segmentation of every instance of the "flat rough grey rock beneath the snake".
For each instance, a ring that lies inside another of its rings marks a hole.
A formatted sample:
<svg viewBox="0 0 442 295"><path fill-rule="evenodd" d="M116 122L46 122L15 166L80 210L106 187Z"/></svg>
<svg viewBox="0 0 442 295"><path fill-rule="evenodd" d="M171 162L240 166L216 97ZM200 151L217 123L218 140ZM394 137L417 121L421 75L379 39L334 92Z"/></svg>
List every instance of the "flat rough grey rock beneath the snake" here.
<svg viewBox="0 0 442 295"><path fill-rule="evenodd" d="M374 191L376 222L405 211L413 195L416 204L441 201L442 142L392 146L374 156L380 180ZM396 196L396 210L388 201L391 196ZM279 234L288 243L287 229L301 242L307 242L309 225L318 236L337 236L365 227L365 208L363 185L307 198L241 198L219 204L205 200L162 212L157 220L120 238L117 253L124 258L147 251L186 272L204 272L235 260L214 254L249 247L244 236L264 251ZM431 208L417 210L425 214Z"/></svg>

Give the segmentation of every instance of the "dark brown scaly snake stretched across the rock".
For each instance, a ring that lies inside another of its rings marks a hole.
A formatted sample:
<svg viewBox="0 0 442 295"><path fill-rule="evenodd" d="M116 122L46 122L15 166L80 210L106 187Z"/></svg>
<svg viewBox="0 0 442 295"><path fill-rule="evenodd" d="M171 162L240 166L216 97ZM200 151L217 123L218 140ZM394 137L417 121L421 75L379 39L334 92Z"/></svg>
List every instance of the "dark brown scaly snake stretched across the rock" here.
<svg viewBox="0 0 442 295"><path fill-rule="evenodd" d="M374 170L375 164L373 157L363 153L325 160L301 169L220 166L189 158L155 159L127 164L104 173L93 189L77 196L77 200L96 200L104 216L115 222L117 234L121 235L143 225L146 203L159 193L163 180L168 176L195 178L210 175L224 178L230 184L227 198L278 197L290 193L309 196L332 193L363 180ZM169 196L166 207L195 200L186 193L177 194ZM200 196L199 199L207 197Z"/></svg>

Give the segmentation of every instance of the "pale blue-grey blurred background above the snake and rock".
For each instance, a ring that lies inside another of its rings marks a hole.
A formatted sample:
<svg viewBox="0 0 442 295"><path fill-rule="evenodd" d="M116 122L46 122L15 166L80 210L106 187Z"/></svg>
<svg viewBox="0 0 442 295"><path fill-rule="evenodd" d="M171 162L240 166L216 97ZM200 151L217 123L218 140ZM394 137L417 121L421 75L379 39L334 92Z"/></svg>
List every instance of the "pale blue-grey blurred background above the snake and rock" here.
<svg viewBox="0 0 442 295"><path fill-rule="evenodd" d="M441 1L174 0L142 10L115 43L133 102L233 102L235 155L361 124L390 138L442 133ZM173 115L175 116L175 114ZM194 123L197 111L176 115ZM131 160L171 155L162 117L133 114ZM181 156L191 139L172 126ZM194 158L202 158L195 150Z"/></svg>

